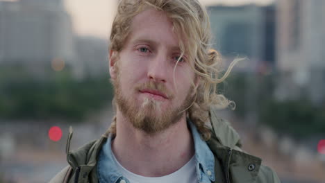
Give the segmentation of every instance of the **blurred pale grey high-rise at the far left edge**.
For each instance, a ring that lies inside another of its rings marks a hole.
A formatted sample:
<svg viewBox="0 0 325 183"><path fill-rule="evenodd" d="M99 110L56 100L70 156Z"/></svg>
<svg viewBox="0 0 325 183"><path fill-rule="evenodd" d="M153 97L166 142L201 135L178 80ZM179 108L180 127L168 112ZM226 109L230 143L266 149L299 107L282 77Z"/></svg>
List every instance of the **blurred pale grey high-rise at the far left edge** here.
<svg viewBox="0 0 325 183"><path fill-rule="evenodd" d="M42 72L60 60L76 68L72 21L63 0L0 1L0 40L0 64Z"/></svg>

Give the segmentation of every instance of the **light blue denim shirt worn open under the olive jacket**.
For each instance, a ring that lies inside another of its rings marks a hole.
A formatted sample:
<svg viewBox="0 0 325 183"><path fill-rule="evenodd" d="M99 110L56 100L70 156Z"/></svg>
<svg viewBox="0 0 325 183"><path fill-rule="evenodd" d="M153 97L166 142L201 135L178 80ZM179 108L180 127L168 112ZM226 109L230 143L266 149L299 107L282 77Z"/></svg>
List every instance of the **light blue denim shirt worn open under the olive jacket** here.
<svg viewBox="0 0 325 183"><path fill-rule="evenodd" d="M192 131L194 139L195 160L197 181L200 183L210 183L215 181L215 157L210 148L200 137L197 128L195 128L192 122L188 122L190 130ZM113 159L111 149L112 136L108 137L108 140L103 145L99 153L99 159L97 164L97 173L100 183L129 183L126 177L123 177L122 173L119 173L117 164Z"/></svg>

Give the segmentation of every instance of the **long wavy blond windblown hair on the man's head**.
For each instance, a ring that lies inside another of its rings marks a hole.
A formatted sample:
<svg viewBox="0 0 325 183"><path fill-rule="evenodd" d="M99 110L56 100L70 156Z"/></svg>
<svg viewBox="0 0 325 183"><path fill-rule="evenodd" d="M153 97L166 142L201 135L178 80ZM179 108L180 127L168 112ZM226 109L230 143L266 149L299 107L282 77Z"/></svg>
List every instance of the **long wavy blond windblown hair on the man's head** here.
<svg viewBox="0 0 325 183"><path fill-rule="evenodd" d="M206 122L209 121L210 106L235 107L232 101L217 93L217 84L228 76L235 62L219 78L222 59L217 51L211 49L208 13L198 0L120 0L110 35L110 50L119 52L123 49L126 37L131 32L133 17L147 8L163 11L171 19L182 51L181 57L186 53L192 62L190 66L199 77L199 86L196 88L195 100L188 108L188 117L196 125L201 137L208 140L210 130ZM186 42L181 37L185 37ZM113 118L110 132L116 133L116 117Z"/></svg>

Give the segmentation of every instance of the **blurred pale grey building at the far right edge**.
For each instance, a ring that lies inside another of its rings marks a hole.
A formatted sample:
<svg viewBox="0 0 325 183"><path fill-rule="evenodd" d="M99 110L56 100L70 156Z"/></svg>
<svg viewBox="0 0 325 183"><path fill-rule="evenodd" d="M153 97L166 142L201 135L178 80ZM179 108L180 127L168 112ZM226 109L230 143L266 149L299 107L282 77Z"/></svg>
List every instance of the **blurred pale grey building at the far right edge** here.
<svg viewBox="0 0 325 183"><path fill-rule="evenodd" d="M325 101L325 1L277 2L277 68L281 73L276 96L307 96Z"/></svg>

